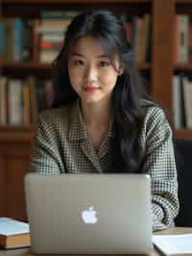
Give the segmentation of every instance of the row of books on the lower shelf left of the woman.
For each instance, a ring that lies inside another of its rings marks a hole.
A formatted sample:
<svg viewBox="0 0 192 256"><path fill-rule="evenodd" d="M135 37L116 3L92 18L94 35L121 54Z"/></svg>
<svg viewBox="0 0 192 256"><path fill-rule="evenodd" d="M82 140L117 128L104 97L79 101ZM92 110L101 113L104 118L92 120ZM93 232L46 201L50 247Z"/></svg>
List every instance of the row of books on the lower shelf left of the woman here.
<svg viewBox="0 0 192 256"><path fill-rule="evenodd" d="M50 80L0 77L0 125L36 124L38 112L51 106Z"/></svg>

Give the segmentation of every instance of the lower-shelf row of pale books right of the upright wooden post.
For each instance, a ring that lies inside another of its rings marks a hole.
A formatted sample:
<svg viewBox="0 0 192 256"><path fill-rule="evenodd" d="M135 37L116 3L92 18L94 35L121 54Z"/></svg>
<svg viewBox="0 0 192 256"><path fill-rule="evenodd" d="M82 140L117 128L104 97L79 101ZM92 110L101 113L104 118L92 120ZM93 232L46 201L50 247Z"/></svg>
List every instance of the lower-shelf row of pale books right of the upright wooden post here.
<svg viewBox="0 0 192 256"><path fill-rule="evenodd" d="M173 76L175 129L192 128L192 80L183 74Z"/></svg>

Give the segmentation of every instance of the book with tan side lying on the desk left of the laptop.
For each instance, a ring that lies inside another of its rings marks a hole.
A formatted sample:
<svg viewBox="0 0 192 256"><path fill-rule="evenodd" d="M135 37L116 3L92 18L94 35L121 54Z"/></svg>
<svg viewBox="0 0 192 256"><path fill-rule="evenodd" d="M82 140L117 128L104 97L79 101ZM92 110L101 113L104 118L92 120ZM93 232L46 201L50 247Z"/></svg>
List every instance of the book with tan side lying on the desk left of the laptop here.
<svg viewBox="0 0 192 256"><path fill-rule="evenodd" d="M8 248L31 245L29 224L13 218L0 218L0 246Z"/></svg>

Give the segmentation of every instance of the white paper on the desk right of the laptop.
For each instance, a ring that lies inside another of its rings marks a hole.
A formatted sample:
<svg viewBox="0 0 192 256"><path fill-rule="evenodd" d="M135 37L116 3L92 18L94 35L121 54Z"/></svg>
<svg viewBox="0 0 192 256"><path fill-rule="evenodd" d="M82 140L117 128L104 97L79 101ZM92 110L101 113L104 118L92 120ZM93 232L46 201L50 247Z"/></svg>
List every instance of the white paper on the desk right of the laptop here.
<svg viewBox="0 0 192 256"><path fill-rule="evenodd" d="M166 255L191 253L192 234L154 235L153 243Z"/></svg>

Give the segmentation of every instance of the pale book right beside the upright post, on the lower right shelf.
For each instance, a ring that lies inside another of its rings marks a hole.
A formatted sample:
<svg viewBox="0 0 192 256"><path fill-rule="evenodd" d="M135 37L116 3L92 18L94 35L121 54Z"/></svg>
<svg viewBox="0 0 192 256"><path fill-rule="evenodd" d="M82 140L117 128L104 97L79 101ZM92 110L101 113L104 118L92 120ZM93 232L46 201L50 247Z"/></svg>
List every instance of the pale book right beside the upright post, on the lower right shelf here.
<svg viewBox="0 0 192 256"><path fill-rule="evenodd" d="M181 84L180 84L180 76L173 76L172 83L172 102L173 102L173 117L174 117L174 128L180 129L182 126L182 118L181 118Z"/></svg>

